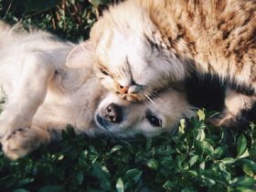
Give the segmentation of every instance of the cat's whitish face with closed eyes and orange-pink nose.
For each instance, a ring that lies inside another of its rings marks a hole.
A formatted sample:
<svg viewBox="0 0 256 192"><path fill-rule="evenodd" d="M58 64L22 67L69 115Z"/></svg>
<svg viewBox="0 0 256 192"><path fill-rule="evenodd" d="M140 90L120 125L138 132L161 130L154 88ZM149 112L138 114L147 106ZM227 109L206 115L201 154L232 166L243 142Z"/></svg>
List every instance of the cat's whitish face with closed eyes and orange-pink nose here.
<svg viewBox="0 0 256 192"><path fill-rule="evenodd" d="M105 30L95 48L95 73L105 88L123 99L145 101L168 84L166 60L146 37Z"/></svg>

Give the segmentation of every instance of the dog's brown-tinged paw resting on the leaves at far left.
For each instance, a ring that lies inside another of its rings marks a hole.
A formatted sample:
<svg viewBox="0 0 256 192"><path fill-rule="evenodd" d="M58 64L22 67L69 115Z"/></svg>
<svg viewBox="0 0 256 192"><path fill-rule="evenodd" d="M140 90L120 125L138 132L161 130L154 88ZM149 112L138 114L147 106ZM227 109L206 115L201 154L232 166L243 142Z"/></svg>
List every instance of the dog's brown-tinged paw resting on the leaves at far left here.
<svg viewBox="0 0 256 192"><path fill-rule="evenodd" d="M30 128L6 133L1 143L5 155L12 160L29 154L41 144L38 133Z"/></svg>

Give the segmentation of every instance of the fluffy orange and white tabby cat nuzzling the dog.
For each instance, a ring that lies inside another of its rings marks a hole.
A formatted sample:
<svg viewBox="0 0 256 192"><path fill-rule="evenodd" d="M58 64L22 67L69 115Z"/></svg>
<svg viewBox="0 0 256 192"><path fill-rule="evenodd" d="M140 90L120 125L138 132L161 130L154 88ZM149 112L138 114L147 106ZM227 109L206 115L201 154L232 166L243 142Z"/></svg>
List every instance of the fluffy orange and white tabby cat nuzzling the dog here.
<svg viewBox="0 0 256 192"><path fill-rule="evenodd" d="M242 88L226 92L217 126L255 101L255 0L127 0L92 27L91 43L102 84L129 101L150 100L191 70ZM82 63L68 60L70 67Z"/></svg>

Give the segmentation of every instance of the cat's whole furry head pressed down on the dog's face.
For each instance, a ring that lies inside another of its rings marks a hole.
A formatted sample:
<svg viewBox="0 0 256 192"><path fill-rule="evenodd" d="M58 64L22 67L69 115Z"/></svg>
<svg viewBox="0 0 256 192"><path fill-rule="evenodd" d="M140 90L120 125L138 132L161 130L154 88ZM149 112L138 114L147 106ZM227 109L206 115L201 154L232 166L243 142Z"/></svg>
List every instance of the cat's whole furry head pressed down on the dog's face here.
<svg viewBox="0 0 256 192"><path fill-rule="evenodd" d="M149 14L136 1L110 7L92 27L90 40L96 75L104 87L128 101L148 100L184 75L175 54L167 50Z"/></svg>

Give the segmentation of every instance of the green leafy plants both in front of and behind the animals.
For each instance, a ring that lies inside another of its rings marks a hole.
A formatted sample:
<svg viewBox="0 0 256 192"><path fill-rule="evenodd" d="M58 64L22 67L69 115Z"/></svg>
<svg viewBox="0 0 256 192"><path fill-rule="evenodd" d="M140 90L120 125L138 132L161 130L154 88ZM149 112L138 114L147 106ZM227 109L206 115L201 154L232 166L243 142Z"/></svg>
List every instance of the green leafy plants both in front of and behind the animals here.
<svg viewBox="0 0 256 192"><path fill-rule="evenodd" d="M0 16L77 41L108 1L0 0ZM37 3L35 3L37 2ZM178 132L129 141L89 138L68 127L63 140L9 161L0 152L1 191L253 191L255 124L234 132L208 126L198 111Z"/></svg>

